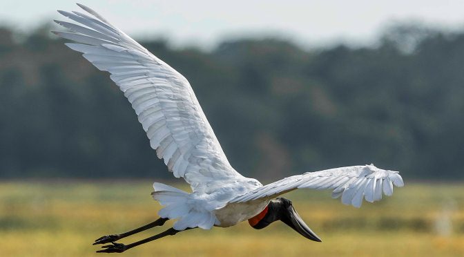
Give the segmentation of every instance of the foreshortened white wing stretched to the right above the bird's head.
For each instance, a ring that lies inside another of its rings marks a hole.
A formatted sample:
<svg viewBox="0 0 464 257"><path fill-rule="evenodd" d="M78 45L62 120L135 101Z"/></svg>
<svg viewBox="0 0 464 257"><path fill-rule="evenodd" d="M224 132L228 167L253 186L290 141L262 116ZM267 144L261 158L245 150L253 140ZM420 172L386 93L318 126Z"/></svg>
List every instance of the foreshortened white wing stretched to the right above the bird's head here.
<svg viewBox="0 0 464 257"><path fill-rule="evenodd" d="M367 202L382 199L382 191L392 196L393 185L403 187L403 178L398 171L378 169L374 164L347 166L325 171L307 172L294 175L260 187L231 200L247 202L250 200L272 199L295 189L334 189L332 198L342 197L344 204L360 207L363 198Z"/></svg>

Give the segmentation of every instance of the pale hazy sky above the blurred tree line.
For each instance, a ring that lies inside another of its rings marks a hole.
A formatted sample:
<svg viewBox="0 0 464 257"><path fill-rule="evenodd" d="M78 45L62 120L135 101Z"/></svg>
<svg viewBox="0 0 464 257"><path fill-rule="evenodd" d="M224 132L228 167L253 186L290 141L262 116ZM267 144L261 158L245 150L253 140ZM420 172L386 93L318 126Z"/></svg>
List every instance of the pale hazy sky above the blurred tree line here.
<svg viewBox="0 0 464 257"><path fill-rule="evenodd" d="M27 31L64 19L55 10L79 10L68 0L0 0L0 24ZM163 37L173 46L213 48L237 37L280 37L304 46L374 44L394 23L436 28L464 26L464 1L141 1L81 0L135 39Z"/></svg>

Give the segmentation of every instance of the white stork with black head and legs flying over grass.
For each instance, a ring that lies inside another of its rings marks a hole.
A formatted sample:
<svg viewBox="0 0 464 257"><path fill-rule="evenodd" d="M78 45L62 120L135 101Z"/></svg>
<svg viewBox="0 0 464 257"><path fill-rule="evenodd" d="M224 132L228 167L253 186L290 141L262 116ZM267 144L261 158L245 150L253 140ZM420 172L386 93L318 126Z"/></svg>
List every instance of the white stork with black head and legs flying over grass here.
<svg viewBox="0 0 464 257"><path fill-rule="evenodd" d="M360 207L363 198L375 202L391 196L393 186L403 187L397 171L373 164L345 166L293 175L263 186L246 178L229 164L202 107L187 79L94 10L77 4L83 12L58 12L75 23L57 21L70 32L53 31L72 50L83 53L124 92L142 124L157 157L164 159L176 178L184 178L192 193L155 182L153 199L164 206L160 218L122 234L101 236L94 245L99 253L123 252L164 236L200 227L231 227L248 220L262 229L280 220L309 240L320 238L305 224L290 200L279 196L296 189L333 189L332 198ZM166 220L177 220L166 231L128 245L116 242Z"/></svg>

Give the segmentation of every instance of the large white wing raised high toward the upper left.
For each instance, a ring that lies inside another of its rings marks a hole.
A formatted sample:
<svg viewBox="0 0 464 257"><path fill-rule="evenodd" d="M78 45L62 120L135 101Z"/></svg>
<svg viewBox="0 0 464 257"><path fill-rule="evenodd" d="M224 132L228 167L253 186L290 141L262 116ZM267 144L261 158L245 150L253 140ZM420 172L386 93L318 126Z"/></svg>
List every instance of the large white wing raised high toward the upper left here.
<svg viewBox="0 0 464 257"><path fill-rule="evenodd" d="M59 10L78 24L55 21L72 32L54 33L79 42L66 46L111 73L168 170L194 191L211 180L242 177L229 164L187 79L97 12L78 6L89 15Z"/></svg>

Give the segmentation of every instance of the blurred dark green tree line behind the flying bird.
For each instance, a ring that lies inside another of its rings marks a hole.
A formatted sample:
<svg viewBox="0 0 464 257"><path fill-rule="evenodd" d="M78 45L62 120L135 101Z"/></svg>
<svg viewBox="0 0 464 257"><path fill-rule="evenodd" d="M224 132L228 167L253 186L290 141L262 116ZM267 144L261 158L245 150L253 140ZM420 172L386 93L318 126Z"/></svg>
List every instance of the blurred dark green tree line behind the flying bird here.
<svg viewBox="0 0 464 257"><path fill-rule="evenodd" d="M48 31L0 29L0 177L171 178L108 74ZM374 162L406 178L464 178L464 32L396 26L377 46L317 50L142 45L189 79L244 175Z"/></svg>

